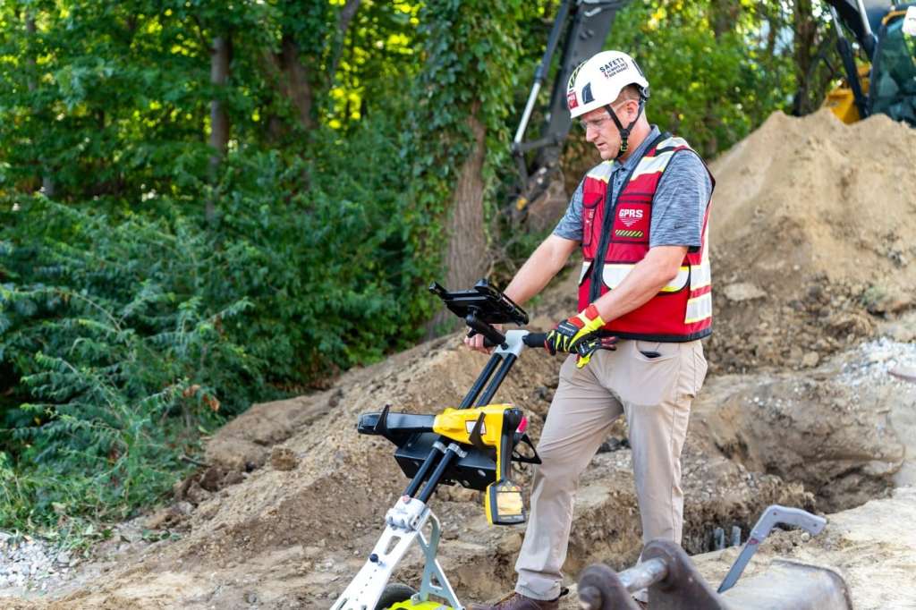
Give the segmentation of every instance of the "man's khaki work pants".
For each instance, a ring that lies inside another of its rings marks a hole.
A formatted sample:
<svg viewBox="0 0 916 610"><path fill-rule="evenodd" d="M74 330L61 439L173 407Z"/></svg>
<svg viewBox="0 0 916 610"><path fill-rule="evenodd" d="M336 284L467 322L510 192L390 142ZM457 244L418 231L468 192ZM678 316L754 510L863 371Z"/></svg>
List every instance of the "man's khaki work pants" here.
<svg viewBox="0 0 916 610"><path fill-rule="evenodd" d="M560 594L579 476L621 414L629 426L643 544L681 542L681 450L705 376L700 341L621 340L616 351L598 351L583 368L574 355L566 359L538 443L543 463L534 471L516 562L518 593L543 600Z"/></svg>

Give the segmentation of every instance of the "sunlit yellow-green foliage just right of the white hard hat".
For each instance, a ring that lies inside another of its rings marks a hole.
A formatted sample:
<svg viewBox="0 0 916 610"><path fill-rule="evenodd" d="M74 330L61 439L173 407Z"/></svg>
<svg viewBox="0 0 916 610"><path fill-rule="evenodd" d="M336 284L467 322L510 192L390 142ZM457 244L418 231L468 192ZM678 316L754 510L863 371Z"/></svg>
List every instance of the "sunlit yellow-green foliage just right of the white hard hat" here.
<svg viewBox="0 0 916 610"><path fill-rule="evenodd" d="M716 31L724 6L728 27ZM781 24L766 21L766 10L765 3L638 0L621 11L607 46L627 50L645 71L649 120L712 157L791 103L791 49L768 43Z"/></svg>

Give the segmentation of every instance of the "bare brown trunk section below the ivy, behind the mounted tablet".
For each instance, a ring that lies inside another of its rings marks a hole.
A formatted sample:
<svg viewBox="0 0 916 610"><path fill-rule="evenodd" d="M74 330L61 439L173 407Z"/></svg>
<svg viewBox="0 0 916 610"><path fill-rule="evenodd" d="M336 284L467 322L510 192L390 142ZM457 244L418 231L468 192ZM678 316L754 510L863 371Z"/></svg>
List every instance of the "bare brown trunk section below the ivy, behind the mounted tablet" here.
<svg viewBox="0 0 916 610"><path fill-rule="evenodd" d="M476 108L467 124L474 134L471 151L464 159L458 173L458 182L450 207L445 235L445 287L465 290L485 274L488 260L484 232L484 158L486 155L486 129L476 116ZM451 311L440 311L431 321L429 334L458 326L460 323Z"/></svg>

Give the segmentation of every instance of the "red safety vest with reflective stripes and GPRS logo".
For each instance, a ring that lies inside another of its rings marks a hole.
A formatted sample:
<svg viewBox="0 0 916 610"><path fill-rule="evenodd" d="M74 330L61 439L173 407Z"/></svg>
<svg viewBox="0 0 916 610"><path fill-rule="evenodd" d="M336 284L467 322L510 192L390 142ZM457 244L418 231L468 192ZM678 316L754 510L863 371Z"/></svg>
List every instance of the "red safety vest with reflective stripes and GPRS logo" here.
<svg viewBox="0 0 916 610"><path fill-rule="evenodd" d="M649 252L652 198L662 173L680 150L692 148L682 138L669 134L649 144L649 150L639 159L623 190L613 201L608 201L607 188L613 162L605 161L585 176L579 310L615 289ZM710 180L713 180L712 175ZM608 322L605 332L621 338L664 342L692 341L713 332L713 295L706 242L709 207L706 202L700 249L684 256L677 277L636 310Z"/></svg>

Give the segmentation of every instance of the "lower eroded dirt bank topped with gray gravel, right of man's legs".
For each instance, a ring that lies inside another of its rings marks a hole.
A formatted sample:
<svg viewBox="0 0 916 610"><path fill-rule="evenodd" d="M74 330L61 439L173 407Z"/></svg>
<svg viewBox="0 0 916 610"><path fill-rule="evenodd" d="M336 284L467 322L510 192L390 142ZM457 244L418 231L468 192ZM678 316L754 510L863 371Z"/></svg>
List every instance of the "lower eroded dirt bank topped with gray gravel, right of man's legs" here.
<svg viewBox="0 0 916 610"><path fill-rule="evenodd" d="M900 362L916 362L916 345L882 340L803 375L714 377L691 433L707 454L802 482L825 512L857 507L912 483L900 475L910 476L916 385L889 375Z"/></svg>

